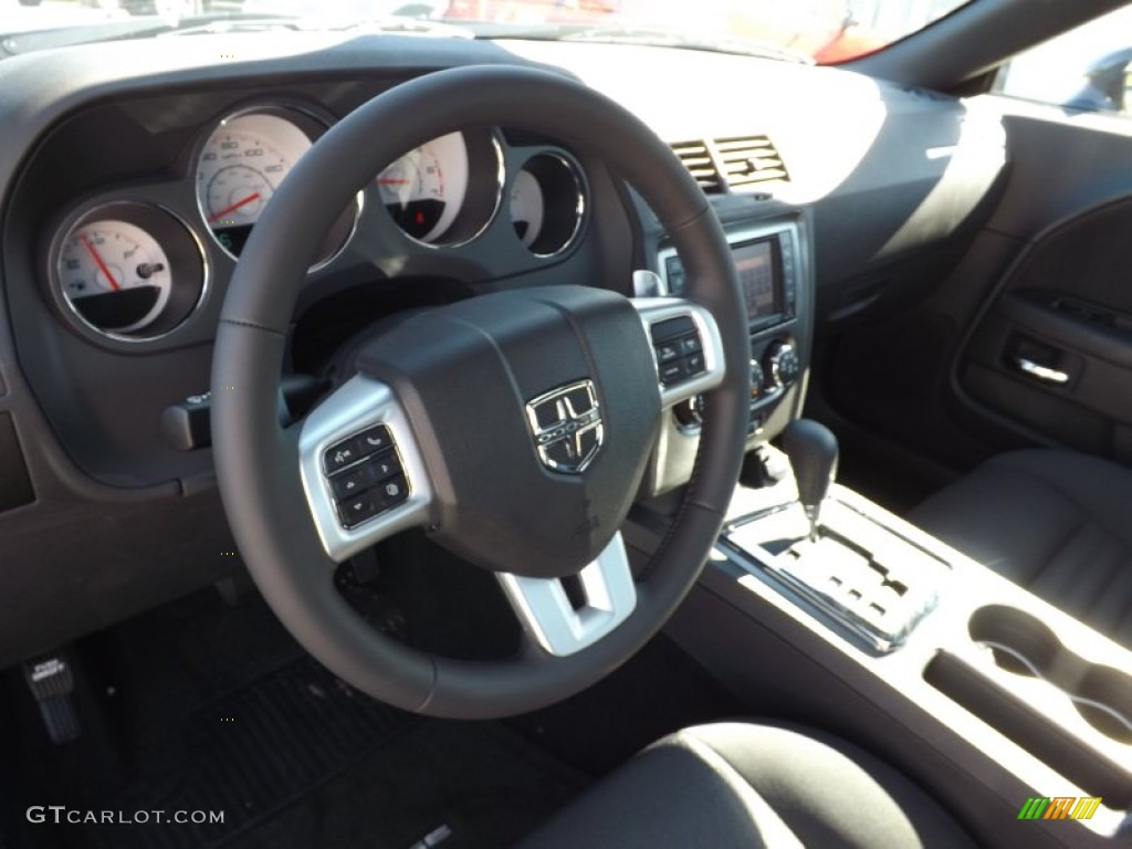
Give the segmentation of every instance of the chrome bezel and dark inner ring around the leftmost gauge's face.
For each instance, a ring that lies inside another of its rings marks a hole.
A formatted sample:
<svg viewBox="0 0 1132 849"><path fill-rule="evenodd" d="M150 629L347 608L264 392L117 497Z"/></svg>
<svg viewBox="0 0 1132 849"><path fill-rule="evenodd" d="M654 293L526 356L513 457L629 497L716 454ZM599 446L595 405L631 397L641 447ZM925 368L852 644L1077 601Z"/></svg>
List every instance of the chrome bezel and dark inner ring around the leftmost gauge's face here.
<svg viewBox="0 0 1132 849"><path fill-rule="evenodd" d="M122 333L92 323L63 291L59 263L67 241L82 228L98 222L120 221L145 231L170 261L172 275L169 302L152 321L137 332ZM122 198L80 206L54 229L46 252L46 280L52 303L82 335L128 345L157 342L181 331L200 311L212 286L212 266L204 243L194 228L178 213L151 200ZM146 332L147 327L155 327Z"/></svg>

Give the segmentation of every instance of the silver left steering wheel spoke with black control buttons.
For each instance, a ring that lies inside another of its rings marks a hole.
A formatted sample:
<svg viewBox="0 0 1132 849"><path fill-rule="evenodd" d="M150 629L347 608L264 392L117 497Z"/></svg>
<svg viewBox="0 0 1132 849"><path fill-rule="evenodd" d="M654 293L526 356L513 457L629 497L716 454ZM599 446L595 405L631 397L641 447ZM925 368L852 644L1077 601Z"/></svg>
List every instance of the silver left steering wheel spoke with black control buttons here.
<svg viewBox="0 0 1132 849"><path fill-rule="evenodd" d="M424 463L386 384L353 377L311 411L299 463L315 528L335 563L428 520Z"/></svg>

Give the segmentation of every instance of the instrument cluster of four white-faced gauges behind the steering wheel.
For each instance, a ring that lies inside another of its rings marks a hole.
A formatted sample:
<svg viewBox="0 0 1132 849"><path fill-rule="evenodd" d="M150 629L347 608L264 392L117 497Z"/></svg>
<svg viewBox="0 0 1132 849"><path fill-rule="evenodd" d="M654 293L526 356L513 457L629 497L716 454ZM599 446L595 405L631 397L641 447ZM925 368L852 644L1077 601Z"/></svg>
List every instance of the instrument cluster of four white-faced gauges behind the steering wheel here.
<svg viewBox="0 0 1132 849"><path fill-rule="evenodd" d="M238 260L280 185L331 123L319 110L293 104L231 112L203 128L194 145L195 208L125 190L57 217L44 243L59 314L96 341L147 342L175 332L208 297L216 267ZM500 226L542 260L577 242L588 187L566 151L508 147L496 129L452 132L376 174L326 233L311 271L343 254L367 201L378 208L371 225L400 231L406 249L451 250Z"/></svg>

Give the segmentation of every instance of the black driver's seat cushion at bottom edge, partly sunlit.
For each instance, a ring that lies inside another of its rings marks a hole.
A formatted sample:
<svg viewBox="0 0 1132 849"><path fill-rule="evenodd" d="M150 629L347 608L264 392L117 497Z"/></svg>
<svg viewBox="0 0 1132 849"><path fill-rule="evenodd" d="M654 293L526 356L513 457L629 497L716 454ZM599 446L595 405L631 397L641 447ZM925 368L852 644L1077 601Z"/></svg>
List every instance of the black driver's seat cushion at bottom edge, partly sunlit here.
<svg viewBox="0 0 1132 849"><path fill-rule="evenodd" d="M524 849L957 847L970 837L908 778L844 740L722 722L638 754Z"/></svg>

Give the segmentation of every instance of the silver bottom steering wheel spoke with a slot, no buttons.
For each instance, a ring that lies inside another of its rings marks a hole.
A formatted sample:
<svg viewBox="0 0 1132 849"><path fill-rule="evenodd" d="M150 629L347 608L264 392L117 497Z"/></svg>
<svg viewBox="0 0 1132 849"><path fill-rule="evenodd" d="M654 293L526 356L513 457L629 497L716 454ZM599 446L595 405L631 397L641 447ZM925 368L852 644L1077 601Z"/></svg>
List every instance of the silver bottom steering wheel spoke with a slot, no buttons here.
<svg viewBox="0 0 1132 849"><path fill-rule="evenodd" d="M593 563L566 578L498 574L526 634L554 657L576 654L636 609L636 586L617 533Z"/></svg>

